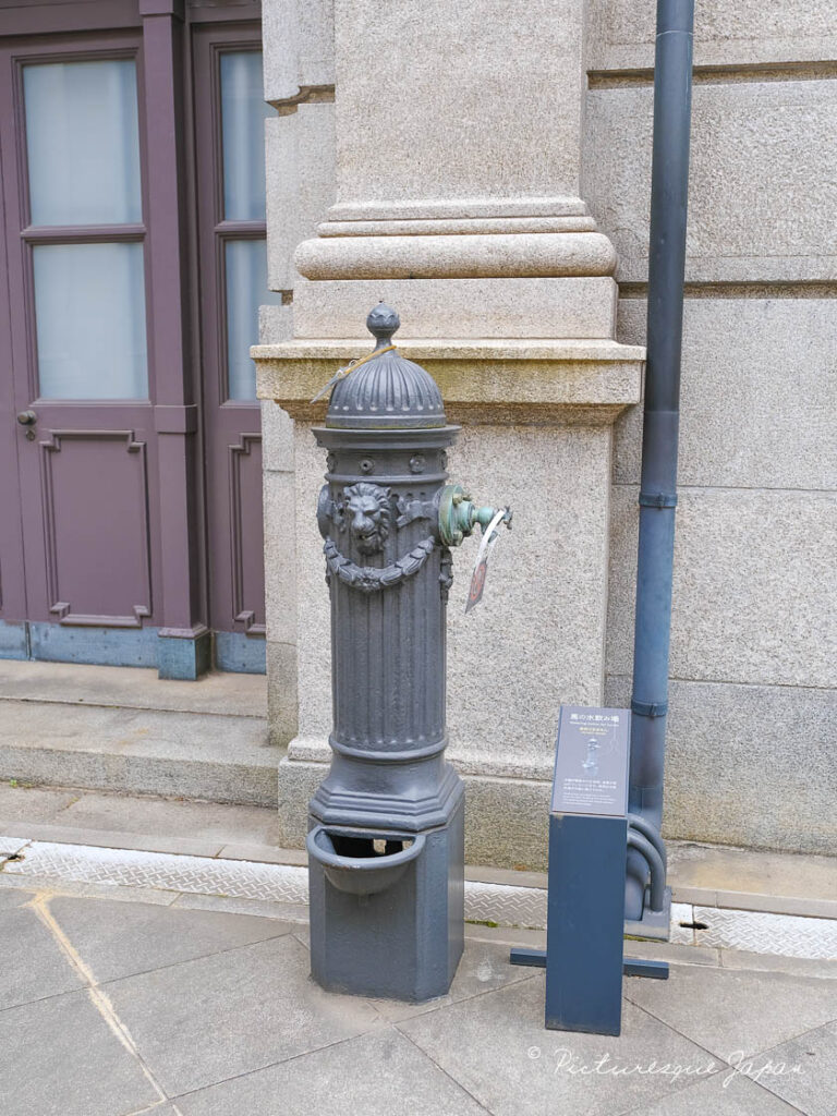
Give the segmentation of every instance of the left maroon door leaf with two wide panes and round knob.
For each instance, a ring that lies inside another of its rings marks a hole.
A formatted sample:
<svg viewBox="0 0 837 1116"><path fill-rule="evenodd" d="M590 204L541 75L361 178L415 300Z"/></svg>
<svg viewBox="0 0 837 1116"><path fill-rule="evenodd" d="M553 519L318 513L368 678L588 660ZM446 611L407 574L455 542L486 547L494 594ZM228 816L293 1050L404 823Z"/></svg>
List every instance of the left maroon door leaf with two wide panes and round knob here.
<svg viewBox="0 0 837 1116"><path fill-rule="evenodd" d="M0 51L6 500L17 482L20 512L2 573L37 657L74 657L96 628L133 633L112 661L147 663L161 614L141 40L74 46Z"/></svg>

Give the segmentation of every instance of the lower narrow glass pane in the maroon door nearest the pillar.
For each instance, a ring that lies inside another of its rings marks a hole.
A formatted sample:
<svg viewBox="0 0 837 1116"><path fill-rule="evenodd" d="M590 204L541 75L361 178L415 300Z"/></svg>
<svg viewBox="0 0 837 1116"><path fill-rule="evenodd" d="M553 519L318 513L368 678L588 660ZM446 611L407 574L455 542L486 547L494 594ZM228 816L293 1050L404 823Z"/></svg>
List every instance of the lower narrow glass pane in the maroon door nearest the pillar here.
<svg viewBox="0 0 837 1116"><path fill-rule="evenodd" d="M227 270L227 367L228 396L256 398L256 365L250 346L259 337L259 307L278 305L281 295L268 290L267 247L263 240L228 240Z"/></svg>

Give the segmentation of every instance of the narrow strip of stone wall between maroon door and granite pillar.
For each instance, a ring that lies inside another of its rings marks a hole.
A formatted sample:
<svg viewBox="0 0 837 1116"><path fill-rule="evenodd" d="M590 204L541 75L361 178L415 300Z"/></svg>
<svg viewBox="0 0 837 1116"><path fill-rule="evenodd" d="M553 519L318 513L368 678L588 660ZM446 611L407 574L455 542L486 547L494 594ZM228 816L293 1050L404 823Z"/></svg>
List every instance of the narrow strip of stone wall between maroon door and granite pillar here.
<svg viewBox="0 0 837 1116"><path fill-rule="evenodd" d="M334 8L331 0L262 3L268 286L281 306L261 308L259 339L292 336L294 252L316 231L335 196ZM297 725L297 573L294 424L262 403L268 700L271 739Z"/></svg>

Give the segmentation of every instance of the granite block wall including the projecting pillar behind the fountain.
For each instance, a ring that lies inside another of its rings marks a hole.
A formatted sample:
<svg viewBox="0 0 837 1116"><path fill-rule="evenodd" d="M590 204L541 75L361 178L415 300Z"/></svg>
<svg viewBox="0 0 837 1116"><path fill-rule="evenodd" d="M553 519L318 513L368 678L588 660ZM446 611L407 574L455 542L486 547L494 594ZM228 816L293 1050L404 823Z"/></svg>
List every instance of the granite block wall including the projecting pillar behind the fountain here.
<svg viewBox="0 0 837 1116"><path fill-rule="evenodd" d="M464 427L456 468L516 506L468 618L458 556L450 756L468 859L542 867L558 704L629 693L653 6L263 9L269 281L292 290L257 352L282 839L328 758L308 401L383 299ZM664 824L837 854L837 37L816 0L708 0L695 67Z"/></svg>

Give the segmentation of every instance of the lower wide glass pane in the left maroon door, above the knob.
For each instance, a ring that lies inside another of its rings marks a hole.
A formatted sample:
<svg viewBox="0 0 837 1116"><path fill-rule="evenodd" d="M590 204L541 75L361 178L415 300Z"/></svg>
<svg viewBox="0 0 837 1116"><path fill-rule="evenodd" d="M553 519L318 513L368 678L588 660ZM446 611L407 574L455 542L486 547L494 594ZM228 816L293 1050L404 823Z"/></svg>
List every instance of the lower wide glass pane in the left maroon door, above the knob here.
<svg viewBox="0 0 837 1116"><path fill-rule="evenodd" d="M37 244L32 267L41 397L146 398L143 246Z"/></svg>

